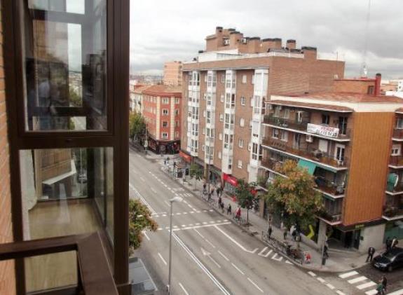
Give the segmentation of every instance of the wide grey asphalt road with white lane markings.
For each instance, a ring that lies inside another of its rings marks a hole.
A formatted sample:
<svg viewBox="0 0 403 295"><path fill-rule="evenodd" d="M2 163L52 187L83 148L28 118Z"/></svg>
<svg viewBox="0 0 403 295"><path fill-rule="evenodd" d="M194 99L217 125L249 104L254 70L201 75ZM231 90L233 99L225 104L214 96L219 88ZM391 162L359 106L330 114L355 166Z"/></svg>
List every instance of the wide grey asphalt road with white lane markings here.
<svg viewBox="0 0 403 295"><path fill-rule="evenodd" d="M180 186L144 154L130 150L130 196L153 212L158 231L137 252L160 294L168 284L169 200L174 203L172 294L364 294L336 275L323 280L276 254Z"/></svg>

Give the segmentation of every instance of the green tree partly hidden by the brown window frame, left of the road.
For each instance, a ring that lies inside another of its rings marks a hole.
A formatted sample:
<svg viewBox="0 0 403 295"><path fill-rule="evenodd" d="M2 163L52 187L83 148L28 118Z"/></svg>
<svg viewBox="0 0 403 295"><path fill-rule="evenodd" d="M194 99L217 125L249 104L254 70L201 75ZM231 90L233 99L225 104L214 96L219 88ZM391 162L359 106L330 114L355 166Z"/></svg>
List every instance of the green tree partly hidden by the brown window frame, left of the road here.
<svg viewBox="0 0 403 295"><path fill-rule="evenodd" d="M140 200L129 200L129 249L133 252L142 242L142 231L156 231L158 224L151 219L151 212Z"/></svg>

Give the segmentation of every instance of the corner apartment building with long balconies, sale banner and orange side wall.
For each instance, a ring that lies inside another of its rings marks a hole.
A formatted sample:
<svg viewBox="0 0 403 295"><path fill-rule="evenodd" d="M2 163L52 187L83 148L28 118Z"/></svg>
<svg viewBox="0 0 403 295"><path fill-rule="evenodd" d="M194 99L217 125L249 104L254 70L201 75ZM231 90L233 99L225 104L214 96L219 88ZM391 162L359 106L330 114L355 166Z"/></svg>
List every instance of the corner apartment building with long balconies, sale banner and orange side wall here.
<svg viewBox="0 0 403 295"><path fill-rule="evenodd" d="M266 102L259 173L271 181L290 159L315 177L325 212L306 237L319 247L325 235L330 247L360 252L403 237L396 222L403 219L403 101L380 90L377 74L337 79L332 92L272 94Z"/></svg>

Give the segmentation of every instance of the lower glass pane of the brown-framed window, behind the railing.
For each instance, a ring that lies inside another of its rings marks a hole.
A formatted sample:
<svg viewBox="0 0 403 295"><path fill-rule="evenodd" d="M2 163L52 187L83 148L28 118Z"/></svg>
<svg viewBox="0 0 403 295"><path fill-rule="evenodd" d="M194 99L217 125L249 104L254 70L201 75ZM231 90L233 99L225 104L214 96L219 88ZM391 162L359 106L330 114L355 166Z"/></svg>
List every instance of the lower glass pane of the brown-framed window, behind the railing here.
<svg viewBox="0 0 403 295"><path fill-rule="evenodd" d="M35 149L20 151L24 239L105 231L114 240L113 149ZM26 266L27 278L41 269L48 280L32 282L32 289L67 283L71 257L36 257ZM63 258L64 257L64 258ZM60 279L63 270L66 280ZM69 280L69 279L68 279ZM27 284L29 286L29 284Z"/></svg>

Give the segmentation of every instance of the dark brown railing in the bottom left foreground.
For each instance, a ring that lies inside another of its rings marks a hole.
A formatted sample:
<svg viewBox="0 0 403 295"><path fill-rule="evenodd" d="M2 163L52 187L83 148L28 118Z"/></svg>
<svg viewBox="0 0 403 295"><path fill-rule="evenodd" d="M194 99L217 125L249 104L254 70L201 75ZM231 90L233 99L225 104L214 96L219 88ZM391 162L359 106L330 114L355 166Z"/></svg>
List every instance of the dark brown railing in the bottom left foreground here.
<svg viewBox="0 0 403 295"><path fill-rule="evenodd" d="M1 244L0 261L69 251L77 252L77 286L36 291L35 294L118 295L98 233Z"/></svg>

